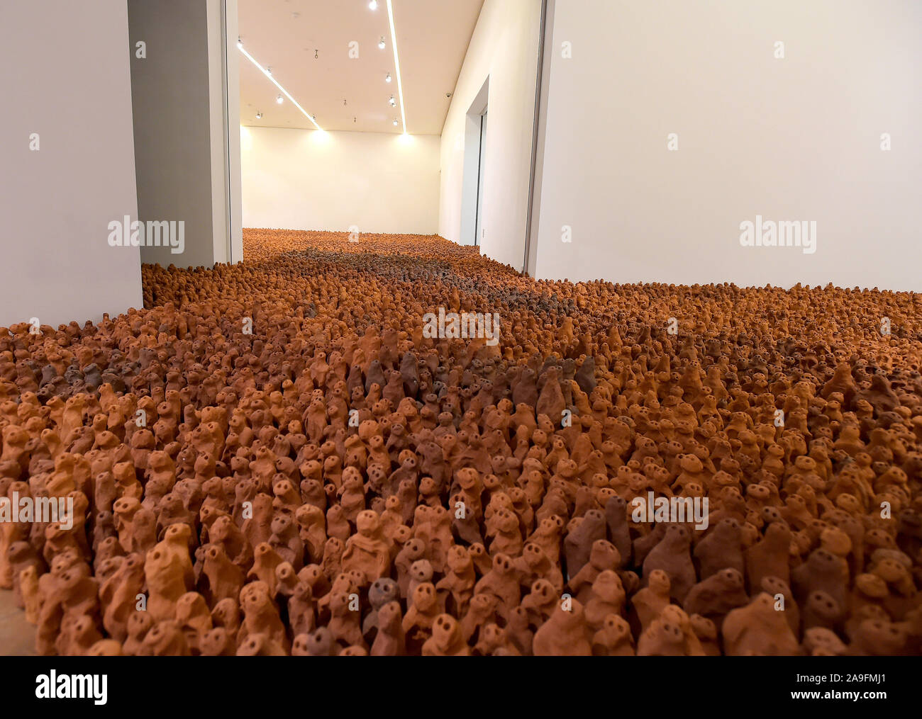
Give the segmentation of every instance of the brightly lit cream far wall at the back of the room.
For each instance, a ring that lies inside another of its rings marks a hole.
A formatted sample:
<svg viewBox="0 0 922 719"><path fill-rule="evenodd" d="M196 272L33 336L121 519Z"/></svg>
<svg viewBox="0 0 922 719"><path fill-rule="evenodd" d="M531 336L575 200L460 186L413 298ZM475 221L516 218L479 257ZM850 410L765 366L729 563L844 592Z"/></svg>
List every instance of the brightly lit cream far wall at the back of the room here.
<svg viewBox="0 0 922 719"><path fill-rule="evenodd" d="M244 227L432 235L437 135L241 127Z"/></svg>

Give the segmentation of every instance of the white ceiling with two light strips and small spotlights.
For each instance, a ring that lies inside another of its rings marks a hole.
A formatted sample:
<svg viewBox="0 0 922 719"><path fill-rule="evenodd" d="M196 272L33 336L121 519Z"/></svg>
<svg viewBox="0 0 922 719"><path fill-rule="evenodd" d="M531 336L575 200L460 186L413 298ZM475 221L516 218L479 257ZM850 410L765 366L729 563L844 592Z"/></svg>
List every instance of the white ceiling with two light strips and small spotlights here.
<svg viewBox="0 0 922 719"><path fill-rule="evenodd" d="M455 90L483 0L392 0L392 5L407 132L441 134L451 101L446 93ZM378 0L376 10L368 0L239 0L239 22L246 51L271 68L324 130L403 132L385 0ZM382 37L384 50L378 48ZM359 43L357 59L349 58L350 41ZM384 81L388 73L390 83ZM278 94L241 54L241 124L313 129L288 99L279 105ZM261 120L256 112L263 113Z"/></svg>

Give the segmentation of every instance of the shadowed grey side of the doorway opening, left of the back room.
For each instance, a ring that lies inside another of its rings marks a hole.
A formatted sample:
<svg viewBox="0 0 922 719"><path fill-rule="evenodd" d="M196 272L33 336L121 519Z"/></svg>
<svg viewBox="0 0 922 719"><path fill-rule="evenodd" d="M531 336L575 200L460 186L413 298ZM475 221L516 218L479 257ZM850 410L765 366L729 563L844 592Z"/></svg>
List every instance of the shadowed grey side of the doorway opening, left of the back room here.
<svg viewBox="0 0 922 719"><path fill-rule="evenodd" d="M229 94L225 120L223 82L226 62L227 86L239 86L237 3L225 5L229 52L219 0L128 0L138 214L184 223L182 252L144 247L144 262L211 267L242 260L240 96Z"/></svg>

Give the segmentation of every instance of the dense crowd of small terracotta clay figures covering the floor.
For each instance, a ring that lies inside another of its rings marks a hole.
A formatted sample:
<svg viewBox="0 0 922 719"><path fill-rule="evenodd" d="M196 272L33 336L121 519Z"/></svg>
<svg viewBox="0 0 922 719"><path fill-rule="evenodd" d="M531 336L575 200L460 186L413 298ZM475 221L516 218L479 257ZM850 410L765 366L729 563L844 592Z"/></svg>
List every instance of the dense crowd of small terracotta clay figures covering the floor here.
<svg viewBox="0 0 922 719"><path fill-rule="evenodd" d="M922 296L245 256L0 331L0 496L75 514L0 524L38 654L922 654Z"/></svg>

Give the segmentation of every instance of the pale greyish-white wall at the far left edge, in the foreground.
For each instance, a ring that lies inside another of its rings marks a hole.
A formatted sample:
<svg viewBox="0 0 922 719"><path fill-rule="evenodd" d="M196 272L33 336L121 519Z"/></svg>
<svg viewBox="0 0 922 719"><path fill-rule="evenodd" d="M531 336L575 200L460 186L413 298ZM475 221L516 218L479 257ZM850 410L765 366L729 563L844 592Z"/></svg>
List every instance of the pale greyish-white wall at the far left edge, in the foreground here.
<svg viewBox="0 0 922 719"><path fill-rule="evenodd" d="M143 304L138 248L108 243L137 218L128 58L124 0L0 3L0 325Z"/></svg>

